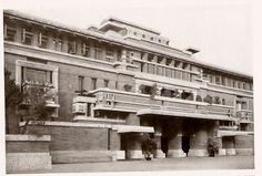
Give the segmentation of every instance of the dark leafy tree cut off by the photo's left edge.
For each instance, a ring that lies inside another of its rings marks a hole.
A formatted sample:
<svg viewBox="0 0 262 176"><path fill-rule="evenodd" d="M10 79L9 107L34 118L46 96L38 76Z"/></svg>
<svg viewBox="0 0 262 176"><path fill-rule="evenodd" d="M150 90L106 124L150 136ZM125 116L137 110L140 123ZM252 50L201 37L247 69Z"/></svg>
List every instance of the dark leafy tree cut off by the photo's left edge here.
<svg viewBox="0 0 262 176"><path fill-rule="evenodd" d="M6 133L18 133L19 120L16 116L17 107L22 103L24 94L20 87L10 79L11 72L4 69L4 95L6 95ZM10 124L14 123L16 126L10 128Z"/></svg>

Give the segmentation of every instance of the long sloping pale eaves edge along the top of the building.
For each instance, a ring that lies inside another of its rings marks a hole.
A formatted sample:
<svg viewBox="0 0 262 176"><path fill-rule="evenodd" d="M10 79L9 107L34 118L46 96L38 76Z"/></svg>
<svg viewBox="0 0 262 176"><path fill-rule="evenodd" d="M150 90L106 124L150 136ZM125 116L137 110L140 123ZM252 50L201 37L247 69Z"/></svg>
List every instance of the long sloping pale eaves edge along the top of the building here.
<svg viewBox="0 0 262 176"><path fill-rule="evenodd" d="M253 79L252 75L249 75L246 73L241 73L239 71L225 69L223 66L213 65L211 63L205 63L203 61L196 61L196 60L189 59L189 58L181 56L181 55L178 56L174 53L163 52L161 50L153 49L151 46L145 46L145 45L138 44L138 43L133 43L131 41L123 41L123 40L120 41L119 39L112 39L112 38L109 38L104 34L102 34L102 33L98 33L98 32L90 31L90 30L84 30L84 29L81 29L81 28L75 28L75 27L72 27L72 25L59 23L57 21L52 21L52 20L48 20L48 19L42 19L42 18L39 18L39 17L36 17L36 15L31 15L29 13L19 12L17 10L3 10L3 17L7 15L7 14L8 15L13 15L13 17L17 17L17 18L20 18L20 19L24 19L24 20L34 21L34 22L38 22L40 24L42 23L44 25L51 25L53 28L60 28L60 29L63 29L66 31L77 32L77 33L80 33L82 35L87 35L87 38L100 38L100 40L107 40L107 41L124 44L127 46L137 48L138 50L148 50L150 52L168 55L168 56L171 56L171 58L177 58L179 60L183 60L183 61L187 61L187 62L190 62L190 63L201 65L202 68L213 69L213 70L220 71L220 72L224 72L224 73L228 73L228 74L234 74L236 76L243 76L243 77L246 77L246 79ZM171 46L169 46L169 48L171 48ZM172 49L174 49L174 48L172 48ZM178 52L183 53L182 50L179 50L179 49L174 49L174 50L177 50Z"/></svg>

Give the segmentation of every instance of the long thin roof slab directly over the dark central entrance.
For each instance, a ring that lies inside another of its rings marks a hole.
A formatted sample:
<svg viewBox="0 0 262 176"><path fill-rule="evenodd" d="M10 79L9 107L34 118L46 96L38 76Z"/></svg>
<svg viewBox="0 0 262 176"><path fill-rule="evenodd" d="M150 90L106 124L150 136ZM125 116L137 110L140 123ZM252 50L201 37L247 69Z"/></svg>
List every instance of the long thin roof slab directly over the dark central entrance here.
<svg viewBox="0 0 262 176"><path fill-rule="evenodd" d="M235 121L233 117L230 117L230 116L226 116L226 115L201 114L201 113L179 112L179 111L174 112L174 111L152 110L152 108L139 110L138 115L163 115L163 116L173 116L173 117Z"/></svg>

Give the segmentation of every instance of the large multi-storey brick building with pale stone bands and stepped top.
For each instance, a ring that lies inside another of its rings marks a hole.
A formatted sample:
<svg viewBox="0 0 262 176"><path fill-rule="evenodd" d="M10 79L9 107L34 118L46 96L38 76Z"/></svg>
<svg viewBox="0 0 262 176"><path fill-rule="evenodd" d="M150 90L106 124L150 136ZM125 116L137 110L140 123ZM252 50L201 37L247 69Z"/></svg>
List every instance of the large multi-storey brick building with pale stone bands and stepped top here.
<svg viewBox="0 0 262 176"><path fill-rule="evenodd" d="M4 68L26 90L58 92L47 102L52 121L28 126L51 134L53 161L142 158L143 133L157 141L155 157L206 156L209 137L219 138L219 155L253 154L252 76L115 18L89 29L17 11L3 18Z"/></svg>

